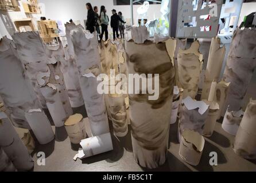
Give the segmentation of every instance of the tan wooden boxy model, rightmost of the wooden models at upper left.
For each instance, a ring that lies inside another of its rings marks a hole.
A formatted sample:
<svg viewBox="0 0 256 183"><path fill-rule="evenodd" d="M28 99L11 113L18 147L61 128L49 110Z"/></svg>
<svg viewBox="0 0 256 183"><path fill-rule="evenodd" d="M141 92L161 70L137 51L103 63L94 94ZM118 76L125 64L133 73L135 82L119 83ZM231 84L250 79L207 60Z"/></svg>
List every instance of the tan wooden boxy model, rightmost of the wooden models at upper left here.
<svg viewBox="0 0 256 183"><path fill-rule="evenodd" d="M42 42L49 43L59 37L58 27L55 21L37 21L37 25Z"/></svg>

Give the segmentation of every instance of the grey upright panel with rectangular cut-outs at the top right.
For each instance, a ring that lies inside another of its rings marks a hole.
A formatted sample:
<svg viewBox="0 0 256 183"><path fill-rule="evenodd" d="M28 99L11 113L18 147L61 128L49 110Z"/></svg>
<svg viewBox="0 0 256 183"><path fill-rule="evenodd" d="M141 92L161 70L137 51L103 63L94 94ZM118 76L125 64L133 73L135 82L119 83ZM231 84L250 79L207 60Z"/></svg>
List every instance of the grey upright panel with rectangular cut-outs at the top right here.
<svg viewBox="0 0 256 183"><path fill-rule="evenodd" d="M177 37L211 38L218 34L223 0L181 0L177 17Z"/></svg>

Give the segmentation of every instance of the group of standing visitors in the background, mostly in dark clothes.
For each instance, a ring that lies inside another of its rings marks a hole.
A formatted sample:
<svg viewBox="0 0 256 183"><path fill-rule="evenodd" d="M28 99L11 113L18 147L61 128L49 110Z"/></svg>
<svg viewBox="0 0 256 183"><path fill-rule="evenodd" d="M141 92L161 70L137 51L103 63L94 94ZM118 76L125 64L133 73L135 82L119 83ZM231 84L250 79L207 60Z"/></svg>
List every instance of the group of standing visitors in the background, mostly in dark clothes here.
<svg viewBox="0 0 256 183"><path fill-rule="evenodd" d="M90 31L90 33L93 33L96 29L97 33L100 35L99 39L100 41L103 38L103 35L105 34L105 40L108 39L108 30L107 27L110 22L110 26L113 29L113 38L119 38L118 30L120 31L121 38L125 38L125 18L122 15L122 12L119 11L117 14L117 10L112 10L112 16L109 20L107 13L107 10L105 6L100 7L100 14L98 14L99 10L97 6L94 6L94 9L92 9L91 3L86 4L86 8L88 10L87 13L87 22L86 22L86 29ZM100 33L100 26L102 27L101 33Z"/></svg>

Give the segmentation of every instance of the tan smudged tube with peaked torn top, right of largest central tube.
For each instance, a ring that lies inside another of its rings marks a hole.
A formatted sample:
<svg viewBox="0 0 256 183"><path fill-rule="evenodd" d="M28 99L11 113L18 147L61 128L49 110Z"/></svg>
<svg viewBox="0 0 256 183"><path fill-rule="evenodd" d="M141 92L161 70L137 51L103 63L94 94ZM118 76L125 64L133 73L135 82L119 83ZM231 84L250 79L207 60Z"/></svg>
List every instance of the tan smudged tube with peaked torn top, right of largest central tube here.
<svg viewBox="0 0 256 183"><path fill-rule="evenodd" d="M190 96L195 99L198 82L203 66L203 55L199 53L198 41L192 43L188 50L179 50L178 74L180 87L184 89L183 98Z"/></svg>

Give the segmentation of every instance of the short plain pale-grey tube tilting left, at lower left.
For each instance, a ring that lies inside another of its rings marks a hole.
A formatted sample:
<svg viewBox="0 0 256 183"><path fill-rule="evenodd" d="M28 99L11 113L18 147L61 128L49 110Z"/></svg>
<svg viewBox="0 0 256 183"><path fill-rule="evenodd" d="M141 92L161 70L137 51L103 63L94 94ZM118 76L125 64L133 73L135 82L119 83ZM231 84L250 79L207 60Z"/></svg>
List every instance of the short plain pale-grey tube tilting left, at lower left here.
<svg viewBox="0 0 256 183"><path fill-rule="evenodd" d="M50 122L41 109L25 112L25 117L39 144L48 144L55 138Z"/></svg>

